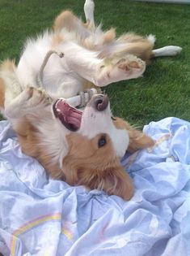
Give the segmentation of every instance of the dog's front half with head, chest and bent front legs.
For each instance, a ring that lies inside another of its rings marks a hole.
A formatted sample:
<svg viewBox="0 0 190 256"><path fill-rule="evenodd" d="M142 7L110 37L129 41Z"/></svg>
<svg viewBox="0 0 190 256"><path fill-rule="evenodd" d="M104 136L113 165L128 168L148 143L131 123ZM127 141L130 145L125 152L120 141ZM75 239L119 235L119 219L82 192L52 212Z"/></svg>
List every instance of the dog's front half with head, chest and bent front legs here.
<svg viewBox="0 0 190 256"><path fill-rule="evenodd" d="M65 99L51 102L35 87L26 87L15 97L16 71L13 63L2 64L0 106L23 153L36 158L55 179L129 200L133 183L120 159L126 150L152 146L154 141L123 119L113 118L105 95L93 96L84 111Z"/></svg>

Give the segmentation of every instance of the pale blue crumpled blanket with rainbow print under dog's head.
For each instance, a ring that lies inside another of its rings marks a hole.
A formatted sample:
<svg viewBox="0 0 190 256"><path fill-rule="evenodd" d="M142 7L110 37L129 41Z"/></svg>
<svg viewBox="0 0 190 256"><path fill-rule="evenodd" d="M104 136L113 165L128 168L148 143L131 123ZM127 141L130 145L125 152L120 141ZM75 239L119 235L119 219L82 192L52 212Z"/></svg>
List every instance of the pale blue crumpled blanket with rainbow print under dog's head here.
<svg viewBox="0 0 190 256"><path fill-rule="evenodd" d="M0 122L0 252L39 256L190 255L190 123L145 126L153 149L122 160L129 202L52 180Z"/></svg>

